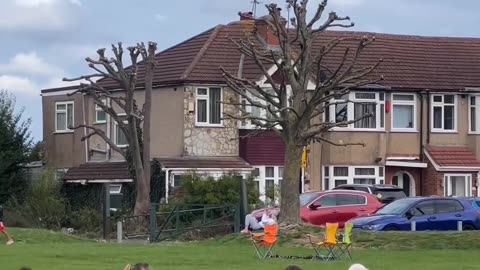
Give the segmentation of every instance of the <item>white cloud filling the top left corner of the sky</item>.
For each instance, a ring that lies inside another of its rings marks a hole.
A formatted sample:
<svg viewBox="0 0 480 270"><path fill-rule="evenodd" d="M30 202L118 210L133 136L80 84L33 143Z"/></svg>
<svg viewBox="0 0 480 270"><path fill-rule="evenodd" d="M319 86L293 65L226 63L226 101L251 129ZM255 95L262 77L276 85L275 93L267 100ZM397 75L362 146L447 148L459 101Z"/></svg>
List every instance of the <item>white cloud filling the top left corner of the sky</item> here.
<svg viewBox="0 0 480 270"><path fill-rule="evenodd" d="M2 0L0 31L59 31L74 20L79 0Z"/></svg>

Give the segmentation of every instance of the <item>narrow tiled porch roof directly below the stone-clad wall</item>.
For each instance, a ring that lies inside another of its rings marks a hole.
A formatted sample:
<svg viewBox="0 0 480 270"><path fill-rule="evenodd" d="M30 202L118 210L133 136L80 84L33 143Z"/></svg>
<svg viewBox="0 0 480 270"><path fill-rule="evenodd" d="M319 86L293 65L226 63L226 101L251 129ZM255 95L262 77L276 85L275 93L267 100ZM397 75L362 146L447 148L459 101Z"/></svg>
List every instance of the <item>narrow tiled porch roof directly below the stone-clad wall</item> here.
<svg viewBox="0 0 480 270"><path fill-rule="evenodd" d="M177 169L252 169L239 157L179 157L158 158L164 168Z"/></svg>

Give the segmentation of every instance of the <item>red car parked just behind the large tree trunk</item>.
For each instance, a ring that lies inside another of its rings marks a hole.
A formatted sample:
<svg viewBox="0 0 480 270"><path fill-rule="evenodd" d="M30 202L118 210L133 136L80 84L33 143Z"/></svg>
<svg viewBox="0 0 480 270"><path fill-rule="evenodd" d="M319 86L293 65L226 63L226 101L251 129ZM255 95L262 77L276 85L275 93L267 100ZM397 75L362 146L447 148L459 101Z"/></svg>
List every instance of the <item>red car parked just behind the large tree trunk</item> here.
<svg viewBox="0 0 480 270"><path fill-rule="evenodd" d="M382 206L375 195L363 191L329 190L300 195L300 217L313 225L338 222L343 227L351 218L372 214ZM255 210L252 214L261 218L263 210ZM278 208L271 211L279 213Z"/></svg>

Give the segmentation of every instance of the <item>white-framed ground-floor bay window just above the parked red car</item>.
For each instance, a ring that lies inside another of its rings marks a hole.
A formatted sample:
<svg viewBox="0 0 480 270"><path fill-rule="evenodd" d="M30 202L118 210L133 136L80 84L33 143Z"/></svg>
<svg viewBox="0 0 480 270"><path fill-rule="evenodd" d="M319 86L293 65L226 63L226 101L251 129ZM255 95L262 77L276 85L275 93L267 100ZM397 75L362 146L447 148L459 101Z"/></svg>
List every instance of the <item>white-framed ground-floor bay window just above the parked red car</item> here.
<svg viewBox="0 0 480 270"><path fill-rule="evenodd" d="M324 166L323 177L323 190L346 184L383 184L384 167Z"/></svg>

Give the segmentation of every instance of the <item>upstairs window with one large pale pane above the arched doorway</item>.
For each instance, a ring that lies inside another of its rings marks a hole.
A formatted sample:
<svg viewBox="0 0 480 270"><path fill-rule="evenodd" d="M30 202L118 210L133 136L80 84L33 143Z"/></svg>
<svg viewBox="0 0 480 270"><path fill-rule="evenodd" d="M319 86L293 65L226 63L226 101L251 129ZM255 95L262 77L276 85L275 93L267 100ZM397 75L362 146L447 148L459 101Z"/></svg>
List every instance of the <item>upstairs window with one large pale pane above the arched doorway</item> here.
<svg viewBox="0 0 480 270"><path fill-rule="evenodd" d="M416 130L416 98L414 94L392 94L392 130Z"/></svg>

